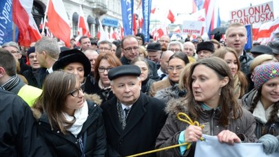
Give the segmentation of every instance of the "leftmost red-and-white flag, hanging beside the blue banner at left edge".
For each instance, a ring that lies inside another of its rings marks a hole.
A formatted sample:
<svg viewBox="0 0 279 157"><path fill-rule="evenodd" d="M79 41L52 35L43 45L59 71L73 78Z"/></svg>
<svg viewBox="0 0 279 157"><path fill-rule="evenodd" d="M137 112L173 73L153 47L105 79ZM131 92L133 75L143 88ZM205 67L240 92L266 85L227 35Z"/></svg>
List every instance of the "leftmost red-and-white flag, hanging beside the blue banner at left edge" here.
<svg viewBox="0 0 279 157"><path fill-rule="evenodd" d="M33 1L12 1L12 21L19 27L19 45L30 47L30 44L41 39L41 34L31 14Z"/></svg>

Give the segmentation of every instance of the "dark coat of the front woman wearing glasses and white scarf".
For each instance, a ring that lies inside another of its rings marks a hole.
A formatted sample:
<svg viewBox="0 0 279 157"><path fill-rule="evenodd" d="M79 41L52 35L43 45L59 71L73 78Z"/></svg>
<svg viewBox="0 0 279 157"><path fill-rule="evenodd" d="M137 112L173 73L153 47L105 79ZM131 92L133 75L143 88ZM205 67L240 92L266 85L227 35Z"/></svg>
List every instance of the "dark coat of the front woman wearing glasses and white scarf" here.
<svg viewBox="0 0 279 157"><path fill-rule="evenodd" d="M88 117L77 137L71 132L63 134L57 128L52 129L45 112L41 115L38 121L39 133L45 138L53 156L81 156L81 145L85 147L85 156L105 156L107 143L102 110L92 101L87 101L87 104Z"/></svg>

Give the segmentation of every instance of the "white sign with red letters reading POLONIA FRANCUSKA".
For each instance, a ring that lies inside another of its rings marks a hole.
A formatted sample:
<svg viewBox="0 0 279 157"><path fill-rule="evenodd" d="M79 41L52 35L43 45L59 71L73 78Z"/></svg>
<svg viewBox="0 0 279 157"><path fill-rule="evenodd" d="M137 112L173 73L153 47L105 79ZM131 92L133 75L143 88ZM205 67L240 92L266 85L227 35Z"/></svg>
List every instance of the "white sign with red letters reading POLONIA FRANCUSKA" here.
<svg viewBox="0 0 279 157"><path fill-rule="evenodd" d="M230 23L238 22L243 25L273 21L273 1L230 11L229 19Z"/></svg>

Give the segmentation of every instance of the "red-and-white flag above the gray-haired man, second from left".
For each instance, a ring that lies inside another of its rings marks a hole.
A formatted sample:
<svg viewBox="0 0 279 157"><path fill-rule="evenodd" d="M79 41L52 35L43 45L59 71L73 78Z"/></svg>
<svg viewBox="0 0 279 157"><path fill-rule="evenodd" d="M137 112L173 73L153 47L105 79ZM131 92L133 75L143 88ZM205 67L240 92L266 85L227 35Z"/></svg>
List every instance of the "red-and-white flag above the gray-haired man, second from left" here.
<svg viewBox="0 0 279 157"><path fill-rule="evenodd" d="M62 0L49 0L47 6L48 28L67 47L70 47L71 28Z"/></svg>

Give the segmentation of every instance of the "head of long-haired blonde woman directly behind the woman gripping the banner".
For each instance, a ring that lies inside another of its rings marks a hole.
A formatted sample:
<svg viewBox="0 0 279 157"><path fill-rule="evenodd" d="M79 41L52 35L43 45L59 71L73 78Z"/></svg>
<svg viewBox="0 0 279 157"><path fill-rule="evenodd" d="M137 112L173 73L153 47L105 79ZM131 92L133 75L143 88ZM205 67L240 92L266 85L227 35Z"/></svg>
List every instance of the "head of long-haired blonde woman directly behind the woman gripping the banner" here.
<svg viewBox="0 0 279 157"><path fill-rule="evenodd" d="M222 58L227 62L234 77L234 95L237 99L240 99L245 94L248 82L245 74L240 71L240 61L236 51L230 47L221 47L216 49L211 56Z"/></svg>

